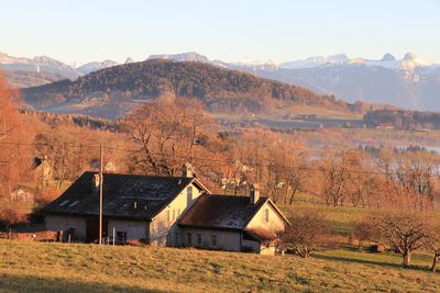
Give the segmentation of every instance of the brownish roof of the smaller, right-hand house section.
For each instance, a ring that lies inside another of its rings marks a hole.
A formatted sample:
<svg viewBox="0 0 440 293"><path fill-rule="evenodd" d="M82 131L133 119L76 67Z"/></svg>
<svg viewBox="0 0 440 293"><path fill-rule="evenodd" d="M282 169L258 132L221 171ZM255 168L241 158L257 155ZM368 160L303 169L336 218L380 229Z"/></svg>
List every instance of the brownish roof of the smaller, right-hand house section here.
<svg viewBox="0 0 440 293"><path fill-rule="evenodd" d="M267 198L260 198L251 204L249 196L205 194L186 212L179 225L242 230L266 201Z"/></svg>

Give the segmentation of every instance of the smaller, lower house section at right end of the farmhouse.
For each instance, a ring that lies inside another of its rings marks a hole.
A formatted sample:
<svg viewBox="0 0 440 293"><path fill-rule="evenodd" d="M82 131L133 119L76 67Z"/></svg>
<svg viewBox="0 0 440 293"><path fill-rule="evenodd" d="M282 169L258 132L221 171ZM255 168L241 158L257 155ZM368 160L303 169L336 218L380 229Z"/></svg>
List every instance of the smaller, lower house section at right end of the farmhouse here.
<svg viewBox="0 0 440 293"><path fill-rule="evenodd" d="M289 222L253 185L250 196L202 194L178 225L187 247L273 255Z"/></svg>

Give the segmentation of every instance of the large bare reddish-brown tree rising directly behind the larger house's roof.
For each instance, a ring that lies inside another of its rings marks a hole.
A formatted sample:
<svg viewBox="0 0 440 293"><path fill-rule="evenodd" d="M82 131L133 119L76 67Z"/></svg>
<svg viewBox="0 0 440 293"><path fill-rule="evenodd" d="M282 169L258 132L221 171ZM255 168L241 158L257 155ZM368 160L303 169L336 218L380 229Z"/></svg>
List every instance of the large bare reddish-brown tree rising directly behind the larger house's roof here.
<svg viewBox="0 0 440 293"><path fill-rule="evenodd" d="M174 176L184 161L194 160L204 129L212 121L199 102L177 99L145 104L123 123L139 146L132 156L133 168Z"/></svg>

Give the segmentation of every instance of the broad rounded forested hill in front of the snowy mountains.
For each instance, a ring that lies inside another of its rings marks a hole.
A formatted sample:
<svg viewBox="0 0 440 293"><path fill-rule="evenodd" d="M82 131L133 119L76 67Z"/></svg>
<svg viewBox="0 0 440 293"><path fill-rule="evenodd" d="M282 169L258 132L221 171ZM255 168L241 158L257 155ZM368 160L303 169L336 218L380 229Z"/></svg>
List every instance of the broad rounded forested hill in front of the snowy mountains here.
<svg viewBox="0 0 440 293"><path fill-rule="evenodd" d="M133 106L133 103L161 97L196 98L209 111L226 113L266 112L286 103L341 111L363 111L365 106L242 71L164 59L114 66L75 81L62 80L23 90L23 98L29 104L54 112L59 110L59 113L67 105L70 109L78 105L78 111L88 109L92 112L90 109L99 108L98 112L109 109L118 115L130 109L128 104ZM90 114L87 111L78 113Z"/></svg>

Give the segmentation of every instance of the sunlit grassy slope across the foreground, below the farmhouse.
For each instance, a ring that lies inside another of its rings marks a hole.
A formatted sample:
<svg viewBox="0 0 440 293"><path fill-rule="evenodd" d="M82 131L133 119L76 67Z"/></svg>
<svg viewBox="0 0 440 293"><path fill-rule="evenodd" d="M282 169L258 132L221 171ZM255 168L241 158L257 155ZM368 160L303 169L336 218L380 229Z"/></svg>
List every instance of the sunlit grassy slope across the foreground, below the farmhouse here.
<svg viewBox="0 0 440 293"><path fill-rule="evenodd" d="M316 257L0 240L0 292L439 292L429 259Z"/></svg>

